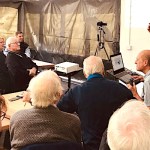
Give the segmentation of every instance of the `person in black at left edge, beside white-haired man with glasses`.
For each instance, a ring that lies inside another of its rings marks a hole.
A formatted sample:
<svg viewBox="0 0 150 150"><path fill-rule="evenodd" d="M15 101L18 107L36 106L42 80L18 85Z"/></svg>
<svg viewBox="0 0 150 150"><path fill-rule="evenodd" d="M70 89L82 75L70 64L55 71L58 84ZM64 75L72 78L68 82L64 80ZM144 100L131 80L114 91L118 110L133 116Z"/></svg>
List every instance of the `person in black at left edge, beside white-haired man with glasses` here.
<svg viewBox="0 0 150 150"><path fill-rule="evenodd" d="M6 94L12 91L11 78L5 63L6 56L3 54L3 50L4 38L0 37L0 94Z"/></svg>

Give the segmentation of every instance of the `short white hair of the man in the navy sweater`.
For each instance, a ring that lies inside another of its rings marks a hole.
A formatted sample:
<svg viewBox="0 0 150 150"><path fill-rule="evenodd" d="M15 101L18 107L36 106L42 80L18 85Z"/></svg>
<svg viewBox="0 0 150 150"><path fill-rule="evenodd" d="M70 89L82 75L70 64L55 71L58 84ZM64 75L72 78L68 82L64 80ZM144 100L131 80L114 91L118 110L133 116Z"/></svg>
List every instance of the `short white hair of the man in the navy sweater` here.
<svg viewBox="0 0 150 150"><path fill-rule="evenodd" d="M83 71L86 77L90 74L99 73L104 74L104 65L102 59L97 56L89 56L84 59L83 62Z"/></svg>

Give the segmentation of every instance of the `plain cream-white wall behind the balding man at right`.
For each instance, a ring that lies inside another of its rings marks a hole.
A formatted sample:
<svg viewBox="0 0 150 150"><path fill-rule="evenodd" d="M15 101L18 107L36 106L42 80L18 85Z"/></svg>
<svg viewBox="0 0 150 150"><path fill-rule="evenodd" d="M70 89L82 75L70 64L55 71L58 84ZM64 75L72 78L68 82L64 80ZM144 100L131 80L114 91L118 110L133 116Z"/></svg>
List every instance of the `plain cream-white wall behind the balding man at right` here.
<svg viewBox="0 0 150 150"><path fill-rule="evenodd" d="M138 53L150 49L149 6L149 0L121 0L120 51L125 67L133 71Z"/></svg>

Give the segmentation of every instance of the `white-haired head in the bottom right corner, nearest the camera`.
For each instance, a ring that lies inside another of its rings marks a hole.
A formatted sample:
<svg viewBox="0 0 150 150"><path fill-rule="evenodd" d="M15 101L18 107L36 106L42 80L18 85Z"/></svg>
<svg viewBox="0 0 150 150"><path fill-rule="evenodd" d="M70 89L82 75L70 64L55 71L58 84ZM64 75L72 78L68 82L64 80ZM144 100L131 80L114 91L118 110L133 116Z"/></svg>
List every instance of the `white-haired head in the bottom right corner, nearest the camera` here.
<svg viewBox="0 0 150 150"><path fill-rule="evenodd" d="M111 150L150 149L150 110L143 102L126 102L111 116L107 139Z"/></svg>

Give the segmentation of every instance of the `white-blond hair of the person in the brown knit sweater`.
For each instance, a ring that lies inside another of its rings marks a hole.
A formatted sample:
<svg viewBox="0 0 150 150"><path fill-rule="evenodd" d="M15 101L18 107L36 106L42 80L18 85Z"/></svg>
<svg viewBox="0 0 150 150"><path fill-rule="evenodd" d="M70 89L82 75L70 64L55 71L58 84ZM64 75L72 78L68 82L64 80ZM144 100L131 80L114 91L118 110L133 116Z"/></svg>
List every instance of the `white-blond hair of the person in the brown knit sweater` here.
<svg viewBox="0 0 150 150"><path fill-rule="evenodd" d="M48 107L56 104L63 94L61 80L51 70L43 71L32 78L28 90L31 101L36 107Z"/></svg>

